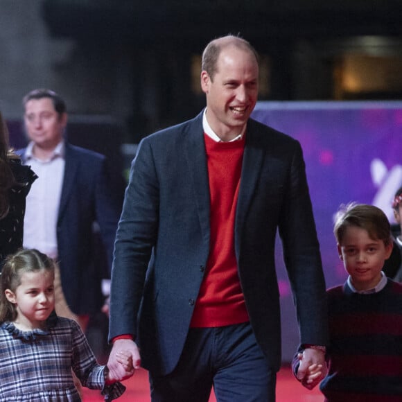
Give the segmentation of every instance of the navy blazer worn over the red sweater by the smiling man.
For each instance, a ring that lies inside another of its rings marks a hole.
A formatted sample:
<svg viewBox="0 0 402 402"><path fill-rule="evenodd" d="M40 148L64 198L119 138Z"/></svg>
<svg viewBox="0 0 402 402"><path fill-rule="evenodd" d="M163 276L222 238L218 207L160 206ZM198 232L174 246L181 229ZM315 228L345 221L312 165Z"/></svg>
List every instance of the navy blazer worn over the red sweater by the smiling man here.
<svg viewBox="0 0 402 402"><path fill-rule="evenodd" d="M279 230L301 343L328 340L319 243L299 142L250 119L235 221L238 276L252 329L281 365ZM116 235L110 339L133 334L143 366L167 374L182 352L209 254L202 113L139 144ZM138 318L138 320L137 320Z"/></svg>

